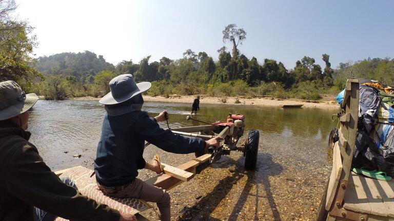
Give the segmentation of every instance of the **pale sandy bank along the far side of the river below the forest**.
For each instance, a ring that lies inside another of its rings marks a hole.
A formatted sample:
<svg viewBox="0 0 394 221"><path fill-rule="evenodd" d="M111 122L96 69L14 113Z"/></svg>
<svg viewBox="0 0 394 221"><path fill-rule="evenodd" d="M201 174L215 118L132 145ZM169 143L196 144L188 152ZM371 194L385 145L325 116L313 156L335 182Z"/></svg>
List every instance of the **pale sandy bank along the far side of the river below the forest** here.
<svg viewBox="0 0 394 221"><path fill-rule="evenodd" d="M147 96L144 95L145 101L151 102L166 102L166 103L192 103L194 96L174 96L165 98L163 96ZM235 101L239 100L240 103L236 104ZM80 97L80 98L72 98L72 100L100 100L100 98L94 97ZM223 101L226 101L224 103ZM299 99L275 99L273 97L264 97L264 98L237 98L237 97L208 97L201 96L200 104L221 104L221 105L250 105L250 106L282 106L289 104L303 104L302 107L305 108L338 108L338 104L333 101L319 101L317 103L307 102Z"/></svg>

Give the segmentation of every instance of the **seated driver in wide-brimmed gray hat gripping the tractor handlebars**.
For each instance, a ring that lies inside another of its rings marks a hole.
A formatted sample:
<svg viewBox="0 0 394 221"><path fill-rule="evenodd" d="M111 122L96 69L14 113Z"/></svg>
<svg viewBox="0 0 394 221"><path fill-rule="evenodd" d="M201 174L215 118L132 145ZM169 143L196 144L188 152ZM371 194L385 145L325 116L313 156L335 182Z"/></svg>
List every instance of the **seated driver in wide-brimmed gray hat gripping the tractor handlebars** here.
<svg viewBox="0 0 394 221"><path fill-rule="evenodd" d="M166 112L149 118L141 111L144 99L141 93L150 89L150 82L135 83L131 74L113 78L111 92L100 103L107 114L97 146L94 171L100 190L114 197L134 197L155 202L162 221L171 219L170 195L163 189L137 178L139 169L162 173L160 159L146 162L143 158L145 141L173 153L206 151L209 146L219 146L221 138L210 140L186 138L162 129L157 122L166 120Z"/></svg>

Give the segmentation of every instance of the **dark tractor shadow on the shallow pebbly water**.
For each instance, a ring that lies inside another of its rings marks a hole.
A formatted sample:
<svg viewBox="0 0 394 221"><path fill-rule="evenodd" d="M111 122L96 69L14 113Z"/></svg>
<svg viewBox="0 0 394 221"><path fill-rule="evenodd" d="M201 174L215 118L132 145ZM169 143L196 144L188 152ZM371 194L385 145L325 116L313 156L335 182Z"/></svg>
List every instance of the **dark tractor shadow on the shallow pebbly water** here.
<svg viewBox="0 0 394 221"><path fill-rule="evenodd" d="M237 182L243 179L245 175L247 176L247 180L240 196L238 197L237 203L234 204L232 211L229 213L229 217L223 218L228 218L228 220L231 221L238 220L240 212L244 208L246 201L251 197L253 198L253 204L255 207L253 211L253 220L259 220L259 202L261 202L259 200L262 199L266 199L268 201L274 220L282 220L271 192L269 176L279 175L282 172L283 167L280 164L273 162L271 154L259 153L258 165L255 171L248 171L244 169L244 158L240 158L237 161L228 158L223 163L213 164L212 167L227 168L229 165L235 165L232 175L220 180L212 191L202 197L198 203L194 204L192 207L185 207L184 210L186 209L187 212L183 213L178 220L222 220L212 217L212 212L230 193L233 185L237 184ZM261 185L263 186L262 189L265 194L260 192ZM255 191L252 193L251 191L253 188Z"/></svg>

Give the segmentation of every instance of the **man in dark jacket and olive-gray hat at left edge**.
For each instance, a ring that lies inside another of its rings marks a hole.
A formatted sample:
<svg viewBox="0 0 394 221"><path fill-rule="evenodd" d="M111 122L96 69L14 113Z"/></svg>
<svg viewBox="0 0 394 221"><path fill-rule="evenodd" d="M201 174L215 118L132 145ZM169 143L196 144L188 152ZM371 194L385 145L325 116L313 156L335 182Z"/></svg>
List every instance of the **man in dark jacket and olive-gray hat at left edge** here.
<svg viewBox="0 0 394 221"><path fill-rule="evenodd" d="M28 109L37 100L13 81L0 82L0 220L49 220L47 213L73 220L136 220L81 195L44 163L26 131ZM40 217L34 207L43 210Z"/></svg>

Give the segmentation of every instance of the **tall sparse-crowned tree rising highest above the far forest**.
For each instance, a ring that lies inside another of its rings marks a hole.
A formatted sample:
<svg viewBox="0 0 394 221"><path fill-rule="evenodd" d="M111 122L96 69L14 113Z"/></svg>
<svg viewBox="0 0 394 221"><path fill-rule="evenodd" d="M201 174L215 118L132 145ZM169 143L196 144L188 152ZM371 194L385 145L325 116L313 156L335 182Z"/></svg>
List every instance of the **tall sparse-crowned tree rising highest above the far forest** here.
<svg viewBox="0 0 394 221"><path fill-rule="evenodd" d="M237 25L230 24L224 28L223 33L223 42L231 41L232 42L232 57L238 58L239 51L238 45L243 43L246 39L246 32L244 29L237 29Z"/></svg>

